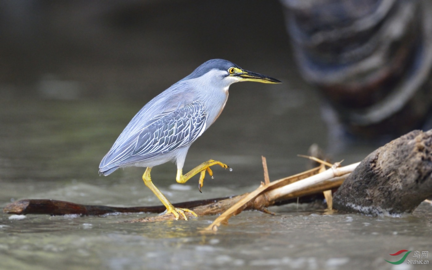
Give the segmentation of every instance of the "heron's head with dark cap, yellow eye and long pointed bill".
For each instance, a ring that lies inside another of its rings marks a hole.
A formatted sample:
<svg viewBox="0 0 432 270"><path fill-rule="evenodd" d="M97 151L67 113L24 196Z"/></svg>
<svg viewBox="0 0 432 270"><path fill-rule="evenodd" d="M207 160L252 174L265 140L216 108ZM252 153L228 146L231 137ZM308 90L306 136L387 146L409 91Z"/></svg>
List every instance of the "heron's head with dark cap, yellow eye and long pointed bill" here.
<svg viewBox="0 0 432 270"><path fill-rule="evenodd" d="M259 82L259 83L282 83L280 80L273 79L259 73L243 70L236 64L222 59L212 59L197 67L194 72L184 79L202 78L206 80L216 80L219 83L229 86L237 82Z"/></svg>

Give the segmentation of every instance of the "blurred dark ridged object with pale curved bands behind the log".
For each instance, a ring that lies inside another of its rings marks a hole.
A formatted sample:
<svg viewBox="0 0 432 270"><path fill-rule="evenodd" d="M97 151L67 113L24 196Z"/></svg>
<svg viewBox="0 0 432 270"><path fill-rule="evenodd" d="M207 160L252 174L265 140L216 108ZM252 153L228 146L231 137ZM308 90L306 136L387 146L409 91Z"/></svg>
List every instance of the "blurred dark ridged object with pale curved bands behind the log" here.
<svg viewBox="0 0 432 270"><path fill-rule="evenodd" d="M302 76L323 94L330 137L394 138L432 128L425 127L432 112L431 1L281 3Z"/></svg>

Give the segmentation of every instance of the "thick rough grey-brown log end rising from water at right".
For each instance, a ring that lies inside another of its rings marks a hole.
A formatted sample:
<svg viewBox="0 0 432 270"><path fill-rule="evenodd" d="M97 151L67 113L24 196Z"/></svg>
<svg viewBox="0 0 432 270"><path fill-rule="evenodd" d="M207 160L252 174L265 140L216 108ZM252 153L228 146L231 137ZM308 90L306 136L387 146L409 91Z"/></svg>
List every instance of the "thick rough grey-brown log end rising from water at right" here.
<svg viewBox="0 0 432 270"><path fill-rule="evenodd" d="M346 178L336 210L368 215L411 213L432 195L432 130L414 130L378 148Z"/></svg>

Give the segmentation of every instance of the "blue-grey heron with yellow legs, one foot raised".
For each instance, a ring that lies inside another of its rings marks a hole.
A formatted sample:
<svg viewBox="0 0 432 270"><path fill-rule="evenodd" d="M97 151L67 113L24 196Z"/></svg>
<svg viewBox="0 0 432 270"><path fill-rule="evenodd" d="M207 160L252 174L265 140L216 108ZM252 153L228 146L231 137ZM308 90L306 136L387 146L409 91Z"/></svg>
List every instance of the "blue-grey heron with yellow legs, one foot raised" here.
<svg viewBox="0 0 432 270"><path fill-rule="evenodd" d="M179 214L187 220L185 212L197 216L192 210L175 208L152 183L150 171L153 166L175 161L176 181L183 184L200 173L198 187L201 191L206 171L213 177L210 166L229 168L210 159L186 174L182 172L187 150L222 112L229 86L242 81L281 83L243 70L227 60L209 60L153 98L132 118L102 159L99 174L109 175L122 167L147 167L143 181L165 205L165 214L172 213L176 220Z"/></svg>

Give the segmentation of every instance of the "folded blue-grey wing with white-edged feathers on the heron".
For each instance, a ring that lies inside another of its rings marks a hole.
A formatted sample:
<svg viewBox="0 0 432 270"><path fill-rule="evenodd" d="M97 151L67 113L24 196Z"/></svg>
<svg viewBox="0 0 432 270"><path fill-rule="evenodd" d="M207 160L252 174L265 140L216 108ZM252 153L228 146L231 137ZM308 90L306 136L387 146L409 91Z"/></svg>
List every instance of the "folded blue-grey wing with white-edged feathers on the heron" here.
<svg viewBox="0 0 432 270"><path fill-rule="evenodd" d="M104 167L142 162L190 145L203 133L205 127L206 111L200 101L184 105L163 116L159 114L148 121L137 136L131 137L111 155L108 153L105 158L109 155L109 161L105 160Z"/></svg>

